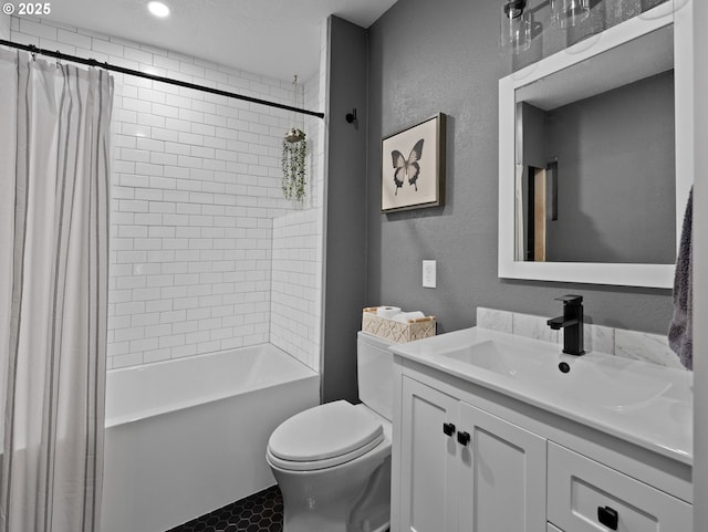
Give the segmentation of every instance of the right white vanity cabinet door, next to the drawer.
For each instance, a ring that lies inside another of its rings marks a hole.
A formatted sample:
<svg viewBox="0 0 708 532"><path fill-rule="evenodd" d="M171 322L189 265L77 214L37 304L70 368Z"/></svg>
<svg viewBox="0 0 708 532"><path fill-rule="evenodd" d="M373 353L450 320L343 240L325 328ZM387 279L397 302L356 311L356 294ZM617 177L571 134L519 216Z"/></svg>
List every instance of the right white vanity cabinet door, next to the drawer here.
<svg viewBox="0 0 708 532"><path fill-rule="evenodd" d="M460 403L460 532L544 532L545 439Z"/></svg>

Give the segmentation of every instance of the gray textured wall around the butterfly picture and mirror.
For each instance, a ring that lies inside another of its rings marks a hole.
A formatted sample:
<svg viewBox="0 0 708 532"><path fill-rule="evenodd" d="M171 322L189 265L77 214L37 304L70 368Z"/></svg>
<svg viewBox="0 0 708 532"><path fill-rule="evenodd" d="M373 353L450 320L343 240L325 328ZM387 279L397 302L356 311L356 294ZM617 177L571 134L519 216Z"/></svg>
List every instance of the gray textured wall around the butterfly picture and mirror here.
<svg viewBox="0 0 708 532"><path fill-rule="evenodd" d="M473 325L477 306L552 316L554 296L580 293L589 321L666 333L667 290L497 278L497 90L518 63L498 53L499 9L398 0L369 28L367 302L435 314L445 332ZM448 115L447 205L382 215L381 139L437 112ZM420 288L423 259L438 261L437 289Z"/></svg>

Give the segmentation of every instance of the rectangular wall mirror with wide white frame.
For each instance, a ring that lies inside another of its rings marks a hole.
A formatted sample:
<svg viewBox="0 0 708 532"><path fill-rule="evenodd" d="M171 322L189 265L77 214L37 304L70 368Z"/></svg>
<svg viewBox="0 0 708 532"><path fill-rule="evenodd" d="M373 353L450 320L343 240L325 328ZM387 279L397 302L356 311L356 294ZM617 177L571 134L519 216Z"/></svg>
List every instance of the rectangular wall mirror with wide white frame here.
<svg viewBox="0 0 708 532"><path fill-rule="evenodd" d="M499 83L499 277L670 288L690 188L673 2Z"/></svg>

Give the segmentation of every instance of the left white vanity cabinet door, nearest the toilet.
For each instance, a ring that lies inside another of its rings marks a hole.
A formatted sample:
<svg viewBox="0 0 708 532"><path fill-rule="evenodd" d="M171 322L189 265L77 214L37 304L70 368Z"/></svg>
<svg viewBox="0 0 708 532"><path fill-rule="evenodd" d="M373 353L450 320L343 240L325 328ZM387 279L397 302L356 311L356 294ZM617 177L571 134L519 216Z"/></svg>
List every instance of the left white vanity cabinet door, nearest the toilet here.
<svg viewBox="0 0 708 532"><path fill-rule="evenodd" d="M408 377L402 399L400 530L457 532L458 400Z"/></svg>

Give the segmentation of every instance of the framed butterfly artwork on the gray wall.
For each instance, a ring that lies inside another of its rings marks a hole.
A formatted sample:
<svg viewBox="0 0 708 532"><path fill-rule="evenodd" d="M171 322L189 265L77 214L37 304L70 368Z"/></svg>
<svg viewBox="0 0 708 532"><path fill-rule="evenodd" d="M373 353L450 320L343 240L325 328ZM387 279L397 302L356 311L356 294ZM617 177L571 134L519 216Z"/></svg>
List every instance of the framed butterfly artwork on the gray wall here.
<svg viewBox="0 0 708 532"><path fill-rule="evenodd" d="M445 205L442 113L384 138L382 149L382 212Z"/></svg>

